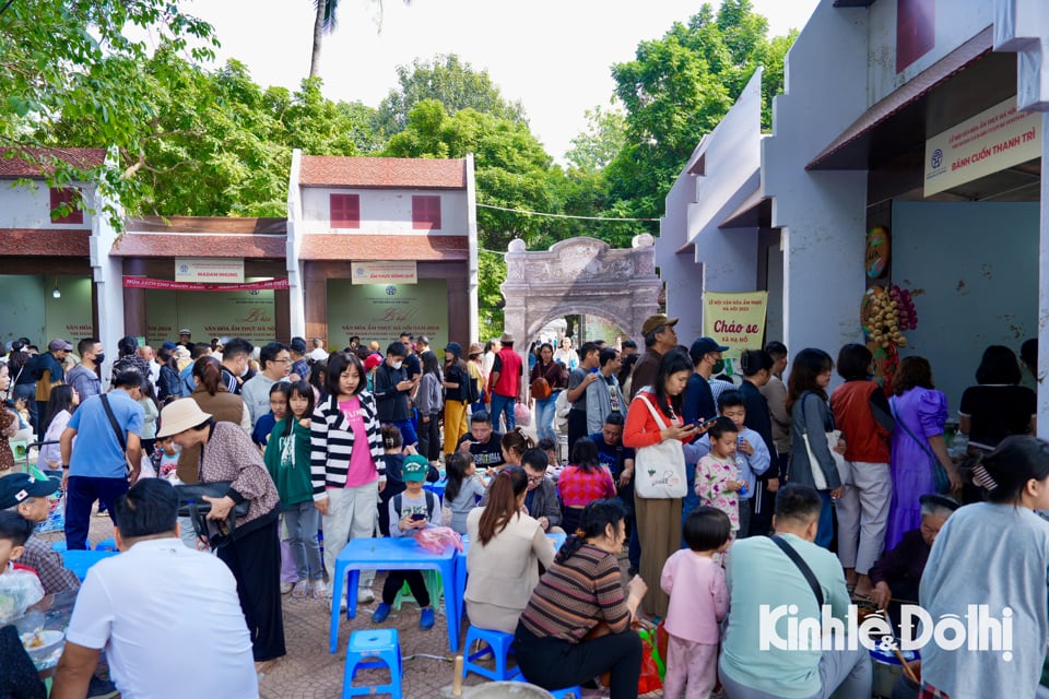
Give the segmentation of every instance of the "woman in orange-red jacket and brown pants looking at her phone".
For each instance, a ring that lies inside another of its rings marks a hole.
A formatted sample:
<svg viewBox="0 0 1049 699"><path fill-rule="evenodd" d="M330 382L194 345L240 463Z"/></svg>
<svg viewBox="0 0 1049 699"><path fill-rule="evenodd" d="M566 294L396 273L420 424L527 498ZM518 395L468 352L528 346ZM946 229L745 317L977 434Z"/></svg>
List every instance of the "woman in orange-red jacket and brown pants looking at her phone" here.
<svg viewBox="0 0 1049 699"><path fill-rule="evenodd" d="M692 371L692 359L685 353L673 350L663 355L651 389L638 391L630 402L623 428L624 447L640 449L668 439L691 442L699 434L695 425L684 425L681 417L681 394ZM667 427L660 428L646 401L660 414ZM685 459L688 460L688 454ZM641 544L640 577L659 580L663 564L681 548L681 498L643 498L635 490L634 509ZM659 585L648 589L644 601L646 614L665 617L669 604L670 597Z"/></svg>

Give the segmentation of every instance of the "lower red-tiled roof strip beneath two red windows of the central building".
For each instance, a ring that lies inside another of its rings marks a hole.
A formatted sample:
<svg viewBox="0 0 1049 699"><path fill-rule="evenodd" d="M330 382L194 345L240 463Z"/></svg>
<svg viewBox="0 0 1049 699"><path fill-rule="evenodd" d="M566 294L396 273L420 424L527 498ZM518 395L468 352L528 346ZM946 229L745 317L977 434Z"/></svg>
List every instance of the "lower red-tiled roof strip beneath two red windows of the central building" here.
<svg viewBox="0 0 1049 699"><path fill-rule="evenodd" d="M304 260L467 260L467 236L390 236L311 233L303 237Z"/></svg>

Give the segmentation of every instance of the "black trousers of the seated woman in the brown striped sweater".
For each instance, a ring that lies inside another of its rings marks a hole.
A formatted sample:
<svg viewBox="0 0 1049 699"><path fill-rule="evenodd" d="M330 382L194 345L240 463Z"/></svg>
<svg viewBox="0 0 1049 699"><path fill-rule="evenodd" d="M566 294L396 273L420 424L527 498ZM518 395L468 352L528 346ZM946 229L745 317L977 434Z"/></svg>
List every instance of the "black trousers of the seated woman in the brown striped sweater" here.
<svg viewBox="0 0 1049 699"><path fill-rule="evenodd" d="M518 623L514 654L528 682L544 689L575 687L611 670L612 699L637 699L637 680L641 676L641 639L637 631L628 629L569 643L540 638Z"/></svg>

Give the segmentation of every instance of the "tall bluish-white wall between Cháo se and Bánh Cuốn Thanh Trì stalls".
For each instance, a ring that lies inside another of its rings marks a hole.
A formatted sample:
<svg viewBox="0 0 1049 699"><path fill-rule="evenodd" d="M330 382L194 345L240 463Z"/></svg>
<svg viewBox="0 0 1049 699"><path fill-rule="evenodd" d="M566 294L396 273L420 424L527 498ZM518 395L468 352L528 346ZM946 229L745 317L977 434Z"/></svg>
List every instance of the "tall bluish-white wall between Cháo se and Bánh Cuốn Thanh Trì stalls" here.
<svg viewBox="0 0 1049 699"><path fill-rule="evenodd" d="M792 353L861 337L865 171L805 165L867 109L867 14L825 0L787 55L763 144L762 187L783 240L783 336ZM830 60L833 59L833 60Z"/></svg>

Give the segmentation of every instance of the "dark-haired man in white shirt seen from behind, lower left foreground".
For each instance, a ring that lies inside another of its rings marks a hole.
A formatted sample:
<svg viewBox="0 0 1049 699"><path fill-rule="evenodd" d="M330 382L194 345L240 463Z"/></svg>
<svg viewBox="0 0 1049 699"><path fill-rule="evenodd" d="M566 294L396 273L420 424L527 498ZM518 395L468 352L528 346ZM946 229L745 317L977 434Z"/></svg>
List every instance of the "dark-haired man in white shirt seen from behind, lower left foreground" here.
<svg viewBox="0 0 1049 699"><path fill-rule="evenodd" d="M87 572L66 631L52 699L81 699L106 651L125 699L256 699L258 676L237 583L221 560L178 538L175 489L144 478L117 500L120 555Z"/></svg>

